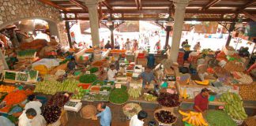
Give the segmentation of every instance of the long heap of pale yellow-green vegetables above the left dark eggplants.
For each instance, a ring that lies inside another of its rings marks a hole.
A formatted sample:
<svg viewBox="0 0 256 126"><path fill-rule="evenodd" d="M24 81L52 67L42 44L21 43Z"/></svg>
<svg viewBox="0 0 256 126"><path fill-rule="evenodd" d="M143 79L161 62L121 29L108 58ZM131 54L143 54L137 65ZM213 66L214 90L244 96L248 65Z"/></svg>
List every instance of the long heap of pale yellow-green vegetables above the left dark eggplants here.
<svg viewBox="0 0 256 126"><path fill-rule="evenodd" d="M56 80L45 80L36 83L35 92L41 92L46 95L55 95L56 92L61 91L74 92L78 83L77 80L64 80L62 83Z"/></svg>

